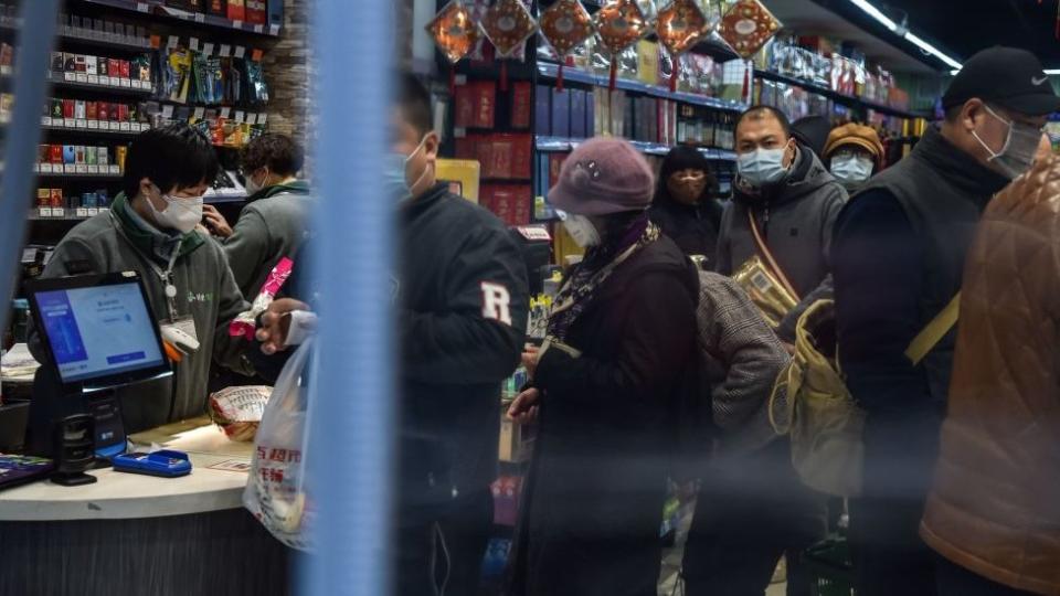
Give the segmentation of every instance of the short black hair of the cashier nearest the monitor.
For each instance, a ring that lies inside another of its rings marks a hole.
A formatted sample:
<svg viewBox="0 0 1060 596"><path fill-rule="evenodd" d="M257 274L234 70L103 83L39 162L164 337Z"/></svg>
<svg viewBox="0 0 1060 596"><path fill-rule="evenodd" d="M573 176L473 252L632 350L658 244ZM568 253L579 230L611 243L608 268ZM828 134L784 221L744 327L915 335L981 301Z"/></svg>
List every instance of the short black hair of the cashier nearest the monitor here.
<svg viewBox="0 0 1060 596"><path fill-rule="evenodd" d="M125 156L121 190L131 200L147 178L162 192L189 188L218 178L218 153L202 132L187 124L171 124L140 132Z"/></svg>

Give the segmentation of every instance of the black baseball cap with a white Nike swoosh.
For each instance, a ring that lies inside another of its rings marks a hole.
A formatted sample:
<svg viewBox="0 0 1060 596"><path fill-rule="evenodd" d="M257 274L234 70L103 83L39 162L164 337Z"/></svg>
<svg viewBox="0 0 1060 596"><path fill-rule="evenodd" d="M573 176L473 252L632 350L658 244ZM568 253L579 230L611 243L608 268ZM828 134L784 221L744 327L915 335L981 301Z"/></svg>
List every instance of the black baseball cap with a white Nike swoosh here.
<svg viewBox="0 0 1060 596"><path fill-rule="evenodd" d="M1028 116L1060 110L1060 97L1041 62L1018 47L996 45L972 56L950 83L942 107L950 109L973 97Z"/></svg>

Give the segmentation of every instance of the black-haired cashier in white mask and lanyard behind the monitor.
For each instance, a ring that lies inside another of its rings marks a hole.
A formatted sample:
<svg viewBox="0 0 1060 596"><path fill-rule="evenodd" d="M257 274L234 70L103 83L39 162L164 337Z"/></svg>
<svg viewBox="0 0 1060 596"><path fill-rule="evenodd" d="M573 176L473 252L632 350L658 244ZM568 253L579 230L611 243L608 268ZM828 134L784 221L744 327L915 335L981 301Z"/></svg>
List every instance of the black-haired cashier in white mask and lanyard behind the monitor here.
<svg viewBox="0 0 1060 596"><path fill-rule="evenodd" d="M43 277L135 270L163 337L172 327L198 340L198 350L181 355L174 377L162 386L137 385L128 395L119 390L126 430L201 415L212 361L253 372L243 358L248 345L227 333L229 322L250 305L221 246L197 230L202 195L216 174L213 146L191 127L141 132L129 147L124 190L110 211L71 230L44 268Z"/></svg>

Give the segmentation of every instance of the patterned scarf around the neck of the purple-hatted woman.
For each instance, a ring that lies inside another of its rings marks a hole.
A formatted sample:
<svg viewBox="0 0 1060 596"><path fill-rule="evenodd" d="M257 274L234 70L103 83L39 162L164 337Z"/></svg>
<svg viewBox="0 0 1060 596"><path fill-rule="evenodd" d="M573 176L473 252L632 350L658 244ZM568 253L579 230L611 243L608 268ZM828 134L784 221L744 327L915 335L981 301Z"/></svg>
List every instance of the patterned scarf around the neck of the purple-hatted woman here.
<svg viewBox="0 0 1060 596"><path fill-rule="evenodd" d="M565 343L574 321L592 302L604 280L629 257L659 240L659 227L645 213L629 224L624 233L615 234L613 242L590 248L585 259L575 266L555 296L549 316L549 337Z"/></svg>

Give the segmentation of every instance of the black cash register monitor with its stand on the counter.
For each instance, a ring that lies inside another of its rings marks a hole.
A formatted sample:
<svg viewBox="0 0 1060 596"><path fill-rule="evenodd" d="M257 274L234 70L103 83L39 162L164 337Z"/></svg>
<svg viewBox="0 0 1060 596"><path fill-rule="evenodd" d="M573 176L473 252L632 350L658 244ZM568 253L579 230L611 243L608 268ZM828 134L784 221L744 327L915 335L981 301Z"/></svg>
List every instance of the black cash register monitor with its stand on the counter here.
<svg viewBox="0 0 1060 596"><path fill-rule="evenodd" d="M41 279L26 289L47 351L34 380L26 450L51 457L56 421L89 414L96 454L123 453L125 426L115 390L172 374L139 276Z"/></svg>

